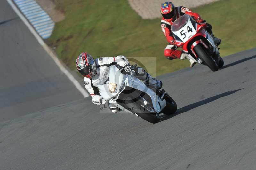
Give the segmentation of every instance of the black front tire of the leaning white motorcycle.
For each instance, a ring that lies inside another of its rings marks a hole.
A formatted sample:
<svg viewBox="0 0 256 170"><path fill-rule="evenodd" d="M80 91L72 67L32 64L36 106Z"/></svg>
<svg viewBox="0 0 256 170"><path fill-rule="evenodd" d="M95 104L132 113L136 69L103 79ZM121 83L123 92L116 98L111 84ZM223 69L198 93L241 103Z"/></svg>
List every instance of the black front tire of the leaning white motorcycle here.
<svg viewBox="0 0 256 170"><path fill-rule="evenodd" d="M131 112L134 114L137 114L142 119L150 122L150 123L158 123L160 121L160 118L157 116L157 114L154 112L150 112L143 107L140 106L140 104L132 103L132 104L126 104L128 108L132 108Z"/></svg>

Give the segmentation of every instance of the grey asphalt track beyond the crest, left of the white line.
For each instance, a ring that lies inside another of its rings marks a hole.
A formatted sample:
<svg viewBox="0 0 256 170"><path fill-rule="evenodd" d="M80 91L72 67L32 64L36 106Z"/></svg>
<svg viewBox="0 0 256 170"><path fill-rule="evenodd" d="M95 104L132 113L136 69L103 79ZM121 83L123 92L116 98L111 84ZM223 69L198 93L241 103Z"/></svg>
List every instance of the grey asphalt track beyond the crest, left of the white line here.
<svg viewBox="0 0 256 170"><path fill-rule="evenodd" d="M83 98L5 0L0 52L0 121Z"/></svg>

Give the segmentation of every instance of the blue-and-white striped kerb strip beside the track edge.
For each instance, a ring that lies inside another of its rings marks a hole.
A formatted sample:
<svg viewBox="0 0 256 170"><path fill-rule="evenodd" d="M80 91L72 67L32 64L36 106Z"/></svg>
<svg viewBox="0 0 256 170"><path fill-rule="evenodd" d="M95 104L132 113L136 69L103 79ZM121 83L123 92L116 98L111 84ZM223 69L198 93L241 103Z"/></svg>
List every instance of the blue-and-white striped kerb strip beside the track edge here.
<svg viewBox="0 0 256 170"><path fill-rule="evenodd" d="M51 36L55 23L35 0L13 1L43 39Z"/></svg>

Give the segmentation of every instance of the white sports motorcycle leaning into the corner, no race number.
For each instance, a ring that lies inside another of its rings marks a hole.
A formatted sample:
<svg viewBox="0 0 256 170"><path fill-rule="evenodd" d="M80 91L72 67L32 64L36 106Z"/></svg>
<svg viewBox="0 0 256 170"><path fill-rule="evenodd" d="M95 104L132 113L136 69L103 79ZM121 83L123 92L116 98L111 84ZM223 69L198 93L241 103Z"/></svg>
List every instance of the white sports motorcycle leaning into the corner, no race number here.
<svg viewBox="0 0 256 170"><path fill-rule="evenodd" d="M170 115L176 112L177 104L164 89L154 92L138 78L121 71L113 65L99 77L100 95L110 104L150 123L159 122L161 113Z"/></svg>

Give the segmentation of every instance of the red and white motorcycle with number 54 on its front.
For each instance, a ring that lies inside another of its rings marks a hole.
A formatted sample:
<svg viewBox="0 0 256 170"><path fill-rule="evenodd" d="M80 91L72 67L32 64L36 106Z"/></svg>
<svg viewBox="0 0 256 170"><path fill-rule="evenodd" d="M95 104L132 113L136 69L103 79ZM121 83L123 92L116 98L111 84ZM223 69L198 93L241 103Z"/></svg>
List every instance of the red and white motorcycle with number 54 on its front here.
<svg viewBox="0 0 256 170"><path fill-rule="evenodd" d="M176 19L171 27L172 35L178 47L182 46L186 55L199 64L217 71L224 65L219 49L212 36L189 15Z"/></svg>

